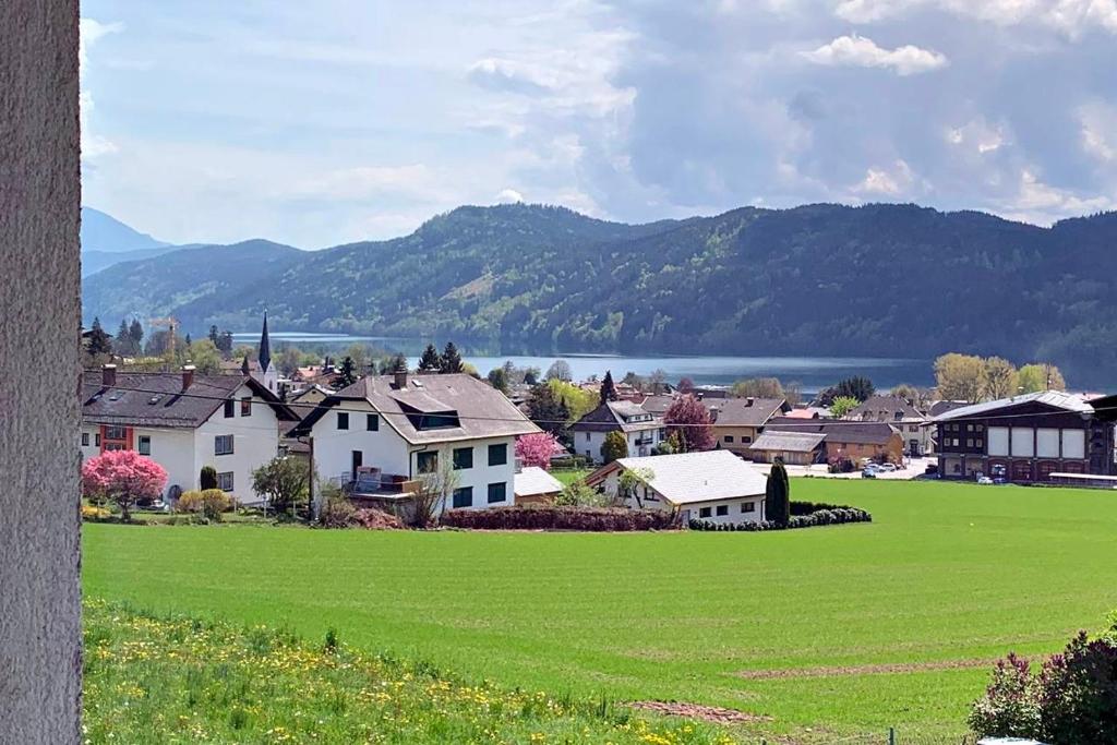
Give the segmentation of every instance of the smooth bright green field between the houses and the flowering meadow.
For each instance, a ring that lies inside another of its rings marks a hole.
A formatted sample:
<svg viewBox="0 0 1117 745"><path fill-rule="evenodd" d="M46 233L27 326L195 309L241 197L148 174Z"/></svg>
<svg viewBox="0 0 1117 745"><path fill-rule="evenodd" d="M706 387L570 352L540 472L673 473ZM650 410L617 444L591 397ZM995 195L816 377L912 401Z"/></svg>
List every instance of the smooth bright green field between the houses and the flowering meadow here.
<svg viewBox="0 0 1117 745"><path fill-rule="evenodd" d="M1010 649L1117 608L1117 495L795 479L872 524L780 533L87 525L85 588L285 625L475 679L772 717L794 741L943 742ZM956 739L955 739L956 742Z"/></svg>

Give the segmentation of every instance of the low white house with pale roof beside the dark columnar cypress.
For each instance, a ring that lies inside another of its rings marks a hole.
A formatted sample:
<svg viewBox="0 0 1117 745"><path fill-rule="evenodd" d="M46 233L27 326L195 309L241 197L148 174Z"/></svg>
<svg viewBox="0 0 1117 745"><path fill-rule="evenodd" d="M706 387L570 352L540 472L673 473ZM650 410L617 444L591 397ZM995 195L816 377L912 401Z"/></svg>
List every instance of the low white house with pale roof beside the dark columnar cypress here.
<svg viewBox="0 0 1117 745"><path fill-rule="evenodd" d="M621 494L621 474L639 483ZM586 477L586 484L622 497L628 507L677 509L690 519L710 523L757 523L764 519L767 477L728 450L621 458Z"/></svg>

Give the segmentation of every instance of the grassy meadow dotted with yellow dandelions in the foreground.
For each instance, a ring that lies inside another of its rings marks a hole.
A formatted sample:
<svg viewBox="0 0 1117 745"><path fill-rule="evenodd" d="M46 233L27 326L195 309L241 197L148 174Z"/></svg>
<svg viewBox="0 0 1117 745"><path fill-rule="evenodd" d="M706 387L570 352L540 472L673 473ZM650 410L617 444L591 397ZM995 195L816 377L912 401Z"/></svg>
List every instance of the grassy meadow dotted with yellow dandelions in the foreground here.
<svg viewBox="0 0 1117 745"><path fill-rule="evenodd" d="M715 725L607 700L469 682L370 655L333 633L85 604L86 743L736 742Z"/></svg>

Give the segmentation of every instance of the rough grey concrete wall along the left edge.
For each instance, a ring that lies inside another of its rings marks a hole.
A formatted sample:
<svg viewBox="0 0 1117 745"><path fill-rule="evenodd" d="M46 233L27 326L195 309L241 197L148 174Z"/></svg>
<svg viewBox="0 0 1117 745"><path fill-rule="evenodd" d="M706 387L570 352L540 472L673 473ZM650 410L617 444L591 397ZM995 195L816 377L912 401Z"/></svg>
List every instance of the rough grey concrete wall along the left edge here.
<svg viewBox="0 0 1117 745"><path fill-rule="evenodd" d="M77 743L76 0L0 2L0 743Z"/></svg>

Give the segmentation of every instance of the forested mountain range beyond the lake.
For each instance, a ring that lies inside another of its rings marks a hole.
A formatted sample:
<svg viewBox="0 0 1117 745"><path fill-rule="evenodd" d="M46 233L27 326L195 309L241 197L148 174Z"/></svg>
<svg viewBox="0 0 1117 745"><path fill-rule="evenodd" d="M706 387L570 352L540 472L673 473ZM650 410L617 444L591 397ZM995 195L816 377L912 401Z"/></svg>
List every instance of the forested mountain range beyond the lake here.
<svg viewBox="0 0 1117 745"><path fill-rule="evenodd" d="M139 233L136 233L139 235ZM153 239L152 239L153 240ZM746 207L649 225L461 207L303 251L191 246L87 277L86 321L454 338L500 353L933 357L1117 370L1117 213L1050 228L914 204ZM141 250L164 250L149 246Z"/></svg>

